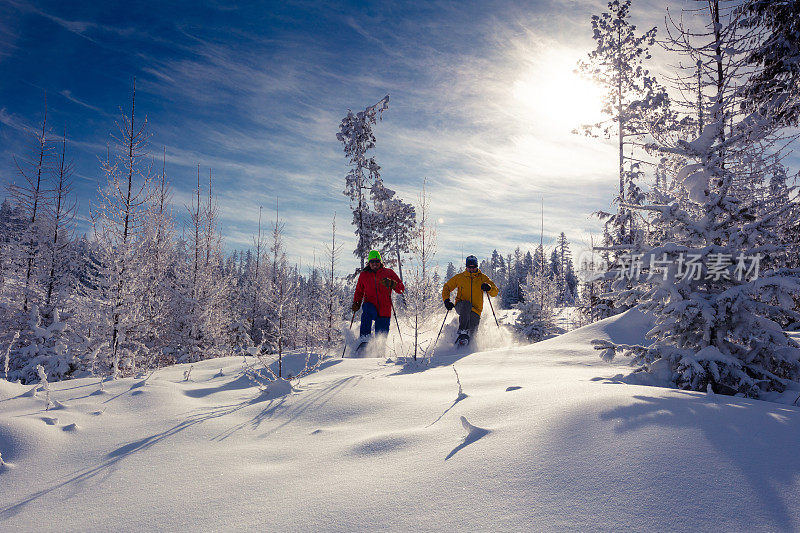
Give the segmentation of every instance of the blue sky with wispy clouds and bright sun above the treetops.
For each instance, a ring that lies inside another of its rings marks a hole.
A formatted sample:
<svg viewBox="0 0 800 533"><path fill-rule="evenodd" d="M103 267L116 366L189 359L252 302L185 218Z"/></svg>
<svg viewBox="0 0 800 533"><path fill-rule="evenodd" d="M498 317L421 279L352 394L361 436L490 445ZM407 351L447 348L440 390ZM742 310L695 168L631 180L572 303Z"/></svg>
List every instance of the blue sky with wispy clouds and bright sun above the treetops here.
<svg viewBox="0 0 800 533"><path fill-rule="evenodd" d="M606 2L20 2L0 0L0 183L41 120L64 126L82 226L119 106L136 77L151 152L167 151L175 212L213 168L229 250L252 243L259 205L280 200L289 256L304 264L337 212L347 168L336 132L348 108L390 95L375 157L387 186L416 201L428 179L438 259L532 247L566 232L576 247L608 206L615 150L570 130L596 117L571 71L592 47L589 19ZM663 3L635 3L640 26Z"/></svg>

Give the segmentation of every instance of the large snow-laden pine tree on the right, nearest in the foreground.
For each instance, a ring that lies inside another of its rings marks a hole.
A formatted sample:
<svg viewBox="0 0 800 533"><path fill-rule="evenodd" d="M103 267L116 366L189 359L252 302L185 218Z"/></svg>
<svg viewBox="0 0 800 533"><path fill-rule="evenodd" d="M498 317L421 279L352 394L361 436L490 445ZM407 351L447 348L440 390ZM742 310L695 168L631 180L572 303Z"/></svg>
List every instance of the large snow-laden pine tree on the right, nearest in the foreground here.
<svg viewBox="0 0 800 533"><path fill-rule="evenodd" d="M776 259L778 224L791 206L772 201L763 173L787 141L771 118L743 112L738 100L752 42L741 14L723 13L711 0L705 17L705 32L681 26L672 44L703 65L708 122L691 141L651 147L686 161L675 199L642 208L656 213L653 224L669 228L672 240L631 258L626 269L645 291L639 307L656 321L650 343L594 343L603 357L630 354L632 364L679 388L758 398L800 378L800 346L783 331L800 318L792 300L799 272ZM626 292L617 297L625 301Z"/></svg>

